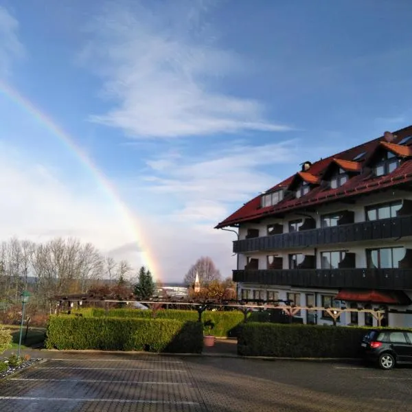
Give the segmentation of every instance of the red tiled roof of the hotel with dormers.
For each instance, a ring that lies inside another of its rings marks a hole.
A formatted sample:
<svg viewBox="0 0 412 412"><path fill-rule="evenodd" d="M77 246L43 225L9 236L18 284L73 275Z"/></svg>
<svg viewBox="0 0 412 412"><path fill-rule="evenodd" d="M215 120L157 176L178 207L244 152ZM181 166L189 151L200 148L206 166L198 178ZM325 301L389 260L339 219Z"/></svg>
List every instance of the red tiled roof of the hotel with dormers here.
<svg viewBox="0 0 412 412"><path fill-rule="evenodd" d="M400 141L404 137L412 135L412 126L398 130L398 132L393 133L393 135L396 135L396 141ZM339 161L341 165L345 165L346 168L350 167L354 170L355 167L353 163L355 162L352 159L362 152L366 152L365 157L363 157L358 163L359 166L357 168L361 171L363 165L371 159L371 156L374 155L374 152L376 152L376 149L379 146L385 147L387 150L391 150L392 152L395 152L396 150L395 153L401 157L410 156L407 155L407 153L411 153L412 149L411 146L401 146L398 144L388 143L387 141L382 141L382 137L379 137L378 139L367 141L365 144L361 144L360 146L350 148L344 152L314 162L305 172L298 172L298 174L290 176L288 179L271 187L271 189L267 192L289 187L289 185L297 179L297 176L308 181L308 183L314 183L315 181L316 183L319 183L325 170L327 170L328 166L330 166L332 162L336 163L336 161ZM237 225L240 222L247 222L262 217L274 216L276 214L282 214L284 212L293 211L296 209L304 209L306 207L339 200L340 198L347 198L349 196L357 196L358 194L374 192L376 190L381 190L393 185L400 185L407 182L412 182L412 159L404 161L404 163L402 163L402 165L400 165L391 174L387 174L385 176L376 177L371 174L370 170L364 168L363 172L353 176L349 181L347 181L347 183L345 183L345 185L338 187L337 189L330 189L330 187L323 187L322 185L319 185L310 190L308 194L301 196L300 198L292 197L286 192L284 200L274 206L261 207L261 195L256 196L251 199L251 201L245 203L243 207L240 207L240 209L231 214L231 216L220 222L216 228L218 229L221 227Z"/></svg>

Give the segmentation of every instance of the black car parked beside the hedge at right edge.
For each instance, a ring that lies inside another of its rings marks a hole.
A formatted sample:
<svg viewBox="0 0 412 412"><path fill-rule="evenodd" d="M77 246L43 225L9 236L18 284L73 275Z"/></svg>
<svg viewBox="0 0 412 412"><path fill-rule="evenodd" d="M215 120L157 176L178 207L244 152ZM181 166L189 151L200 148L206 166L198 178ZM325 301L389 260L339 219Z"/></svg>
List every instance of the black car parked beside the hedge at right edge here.
<svg viewBox="0 0 412 412"><path fill-rule="evenodd" d="M371 330L363 336L361 350L365 360L377 363L382 369L412 363L412 331Z"/></svg>

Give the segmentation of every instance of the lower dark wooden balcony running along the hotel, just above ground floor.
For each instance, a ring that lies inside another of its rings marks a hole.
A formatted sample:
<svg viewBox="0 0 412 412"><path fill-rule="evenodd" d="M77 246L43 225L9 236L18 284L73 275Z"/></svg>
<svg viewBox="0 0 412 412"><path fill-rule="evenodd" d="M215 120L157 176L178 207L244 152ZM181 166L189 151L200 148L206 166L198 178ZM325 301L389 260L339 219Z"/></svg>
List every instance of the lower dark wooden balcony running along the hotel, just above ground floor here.
<svg viewBox="0 0 412 412"><path fill-rule="evenodd" d="M412 269L269 269L233 271L234 282L278 286L412 289Z"/></svg>

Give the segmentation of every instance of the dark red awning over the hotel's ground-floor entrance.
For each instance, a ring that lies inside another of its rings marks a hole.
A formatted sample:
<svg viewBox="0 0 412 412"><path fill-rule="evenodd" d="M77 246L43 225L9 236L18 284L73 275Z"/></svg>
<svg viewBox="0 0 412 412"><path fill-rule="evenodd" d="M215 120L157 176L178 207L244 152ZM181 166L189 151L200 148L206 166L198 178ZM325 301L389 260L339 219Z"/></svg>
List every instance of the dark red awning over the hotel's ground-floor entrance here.
<svg viewBox="0 0 412 412"><path fill-rule="evenodd" d="M411 301L402 291L385 290L341 290L335 299L394 305L407 305Z"/></svg>

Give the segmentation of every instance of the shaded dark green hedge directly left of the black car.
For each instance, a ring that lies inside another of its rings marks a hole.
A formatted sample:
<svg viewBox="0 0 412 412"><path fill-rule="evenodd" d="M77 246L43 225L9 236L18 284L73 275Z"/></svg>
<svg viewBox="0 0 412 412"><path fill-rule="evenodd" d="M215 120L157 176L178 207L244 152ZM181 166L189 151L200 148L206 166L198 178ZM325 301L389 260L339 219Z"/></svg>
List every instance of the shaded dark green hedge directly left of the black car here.
<svg viewBox="0 0 412 412"><path fill-rule="evenodd" d="M367 328L245 323L238 354L286 358L357 358Z"/></svg>

